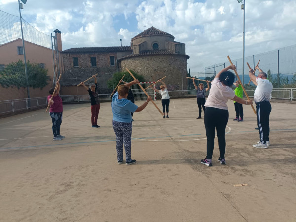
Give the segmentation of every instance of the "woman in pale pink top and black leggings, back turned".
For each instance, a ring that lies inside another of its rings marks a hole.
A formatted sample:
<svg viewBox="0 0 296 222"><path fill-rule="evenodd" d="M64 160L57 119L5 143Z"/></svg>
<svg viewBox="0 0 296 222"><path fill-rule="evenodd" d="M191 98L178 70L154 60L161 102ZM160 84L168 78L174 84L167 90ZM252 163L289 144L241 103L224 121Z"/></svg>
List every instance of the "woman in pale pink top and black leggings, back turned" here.
<svg viewBox="0 0 296 222"><path fill-rule="evenodd" d="M207 135L207 157L201 160L202 164L212 166L212 155L214 150L215 128L217 131L220 157L218 161L225 165L225 129L229 118L227 101L231 99L241 104L251 105L252 100L243 100L237 97L231 86L233 85L235 75L228 71L236 69L235 65L230 65L222 69L212 81L210 94L205 103L206 112L204 123Z"/></svg>

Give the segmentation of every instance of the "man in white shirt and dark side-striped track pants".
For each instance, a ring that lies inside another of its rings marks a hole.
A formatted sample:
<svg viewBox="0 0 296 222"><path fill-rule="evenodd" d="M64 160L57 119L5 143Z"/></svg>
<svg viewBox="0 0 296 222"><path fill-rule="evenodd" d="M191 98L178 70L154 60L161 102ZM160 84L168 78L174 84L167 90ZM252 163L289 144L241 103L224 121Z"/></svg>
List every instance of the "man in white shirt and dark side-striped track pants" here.
<svg viewBox="0 0 296 222"><path fill-rule="evenodd" d="M271 104L269 102L272 92L272 84L267 79L267 74L258 66L257 77L254 75L253 69L249 71L251 81L257 86L254 92L254 102L256 103L257 126L259 128L260 141L254 144L255 148L268 148L269 142L269 115L271 112Z"/></svg>

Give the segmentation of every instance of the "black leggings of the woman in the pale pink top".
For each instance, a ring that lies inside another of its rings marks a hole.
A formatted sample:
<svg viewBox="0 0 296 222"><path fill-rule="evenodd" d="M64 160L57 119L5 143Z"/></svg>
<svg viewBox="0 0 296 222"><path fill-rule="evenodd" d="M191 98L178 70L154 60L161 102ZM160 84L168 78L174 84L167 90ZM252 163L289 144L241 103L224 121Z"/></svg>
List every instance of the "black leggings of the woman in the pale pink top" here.
<svg viewBox="0 0 296 222"><path fill-rule="evenodd" d="M207 135L207 159L212 159L214 151L215 128L217 131L220 158L225 159L225 130L229 113L225 109L207 107L205 112L205 127Z"/></svg>

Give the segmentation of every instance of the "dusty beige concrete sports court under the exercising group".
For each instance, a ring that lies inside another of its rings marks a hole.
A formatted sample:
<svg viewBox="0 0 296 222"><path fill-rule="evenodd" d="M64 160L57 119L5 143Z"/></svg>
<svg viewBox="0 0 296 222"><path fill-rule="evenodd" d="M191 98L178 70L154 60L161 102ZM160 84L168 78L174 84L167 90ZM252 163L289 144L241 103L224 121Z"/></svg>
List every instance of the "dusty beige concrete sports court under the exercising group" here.
<svg viewBox="0 0 296 222"><path fill-rule="evenodd" d="M296 104L272 103L268 149L252 147L256 115L243 107L245 121L232 121L228 102L227 165L216 140L213 167L200 163L196 98L172 99L170 119L152 103L135 113L130 166L117 165L111 103L101 103L101 128L91 127L89 104L64 105L62 141L45 109L2 118L0 222L295 222Z"/></svg>

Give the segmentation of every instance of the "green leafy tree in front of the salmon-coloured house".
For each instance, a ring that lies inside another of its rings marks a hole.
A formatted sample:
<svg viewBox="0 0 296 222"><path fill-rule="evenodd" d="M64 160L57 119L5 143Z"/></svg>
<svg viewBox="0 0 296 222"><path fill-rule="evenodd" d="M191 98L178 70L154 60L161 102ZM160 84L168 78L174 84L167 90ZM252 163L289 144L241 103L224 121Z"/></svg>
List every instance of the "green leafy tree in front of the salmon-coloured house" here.
<svg viewBox="0 0 296 222"><path fill-rule="evenodd" d="M29 87L40 88L47 86L50 77L47 75L48 70L41 68L39 63L27 62L27 73ZM3 87L16 86L18 89L27 87L25 64L22 60L9 63L2 71L0 71L0 84Z"/></svg>

